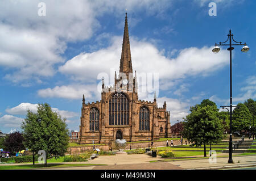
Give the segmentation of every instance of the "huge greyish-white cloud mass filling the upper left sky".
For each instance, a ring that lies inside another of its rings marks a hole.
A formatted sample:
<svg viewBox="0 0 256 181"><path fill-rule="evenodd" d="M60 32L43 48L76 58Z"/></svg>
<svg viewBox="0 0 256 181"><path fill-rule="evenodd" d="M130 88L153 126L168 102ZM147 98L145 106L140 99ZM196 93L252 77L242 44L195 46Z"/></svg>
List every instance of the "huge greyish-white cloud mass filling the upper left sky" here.
<svg viewBox="0 0 256 181"><path fill-rule="evenodd" d="M0 6L0 66L8 68L5 78L15 83L28 79L39 83L55 74L54 65L64 61L61 54L67 43L90 39L100 28L97 18L105 13L123 21L125 9L160 14L171 4L167 0L45 0L46 16L39 16L39 2L4 1Z"/></svg>

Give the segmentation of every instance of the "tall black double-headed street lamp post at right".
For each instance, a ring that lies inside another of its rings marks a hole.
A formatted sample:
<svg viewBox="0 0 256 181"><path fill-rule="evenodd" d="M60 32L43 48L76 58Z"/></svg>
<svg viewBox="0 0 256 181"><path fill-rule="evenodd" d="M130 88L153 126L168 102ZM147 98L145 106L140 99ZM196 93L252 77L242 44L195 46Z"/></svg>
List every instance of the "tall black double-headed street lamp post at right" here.
<svg viewBox="0 0 256 181"><path fill-rule="evenodd" d="M229 40L229 44L225 44ZM232 40L237 44L232 44ZM247 52L249 50L249 47L247 47L246 43L242 44L242 42L235 41L233 39L233 34L231 33L231 30L229 30L228 39L224 42L220 42L219 44L215 43L215 47L213 48L213 53L218 53L220 51L220 48L218 46L229 46L229 59L230 59L230 131L229 131L229 161L228 163L234 163L232 159L232 50L234 49L234 45L243 45L243 48L241 49L242 52Z"/></svg>

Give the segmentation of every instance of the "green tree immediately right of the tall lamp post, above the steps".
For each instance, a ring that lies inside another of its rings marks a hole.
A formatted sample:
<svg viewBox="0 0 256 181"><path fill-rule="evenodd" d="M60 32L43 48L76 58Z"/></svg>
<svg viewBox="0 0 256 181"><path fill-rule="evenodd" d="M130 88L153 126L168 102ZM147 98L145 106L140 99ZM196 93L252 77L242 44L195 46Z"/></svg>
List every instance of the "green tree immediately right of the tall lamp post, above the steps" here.
<svg viewBox="0 0 256 181"><path fill-rule="evenodd" d="M232 131L239 131L240 133L242 130L249 131L251 113L245 104L238 103L237 106L239 107L236 107L233 111Z"/></svg>

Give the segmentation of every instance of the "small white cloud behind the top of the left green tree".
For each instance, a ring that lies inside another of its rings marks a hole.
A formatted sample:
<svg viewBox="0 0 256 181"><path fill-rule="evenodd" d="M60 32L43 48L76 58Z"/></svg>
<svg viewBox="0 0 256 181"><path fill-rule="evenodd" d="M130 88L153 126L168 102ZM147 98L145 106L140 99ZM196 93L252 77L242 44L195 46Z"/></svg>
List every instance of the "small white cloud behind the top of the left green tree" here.
<svg viewBox="0 0 256 181"><path fill-rule="evenodd" d="M37 112L37 107L38 104L20 103L18 106L13 108L7 108L5 111L13 115L27 115L27 110L35 113ZM67 119L79 115L76 112L59 110L58 108L52 108L52 111L59 113L63 118L65 117Z"/></svg>

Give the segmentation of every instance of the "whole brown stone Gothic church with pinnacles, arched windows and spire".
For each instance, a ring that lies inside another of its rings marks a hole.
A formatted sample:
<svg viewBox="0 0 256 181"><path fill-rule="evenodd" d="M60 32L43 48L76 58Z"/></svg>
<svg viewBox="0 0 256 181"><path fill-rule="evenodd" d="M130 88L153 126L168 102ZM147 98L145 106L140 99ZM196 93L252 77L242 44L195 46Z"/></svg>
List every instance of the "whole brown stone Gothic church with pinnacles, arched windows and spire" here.
<svg viewBox="0 0 256 181"><path fill-rule="evenodd" d="M102 79L100 102L86 104L83 95L79 142L109 144L118 138L131 142L163 137L171 137L170 112L166 102L158 107L156 96L154 102L138 99L126 14L119 75L115 73L113 87L106 87Z"/></svg>

